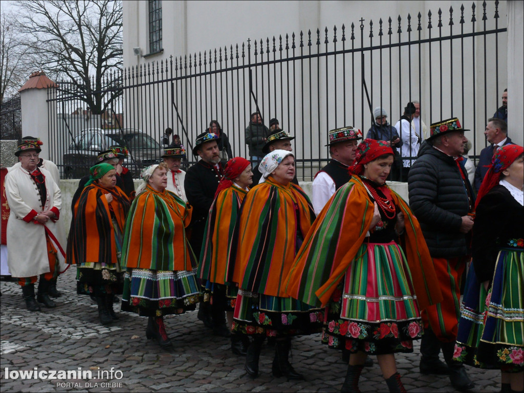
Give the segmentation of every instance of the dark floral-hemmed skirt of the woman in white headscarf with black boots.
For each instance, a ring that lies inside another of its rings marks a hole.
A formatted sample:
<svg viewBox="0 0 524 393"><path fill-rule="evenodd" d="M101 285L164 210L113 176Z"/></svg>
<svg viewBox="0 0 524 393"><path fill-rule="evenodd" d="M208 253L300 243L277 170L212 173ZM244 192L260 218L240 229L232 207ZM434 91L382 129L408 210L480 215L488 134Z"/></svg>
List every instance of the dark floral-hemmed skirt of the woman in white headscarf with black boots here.
<svg viewBox="0 0 524 393"><path fill-rule="evenodd" d="M232 331L269 337L320 333L324 309L293 298L238 290Z"/></svg>

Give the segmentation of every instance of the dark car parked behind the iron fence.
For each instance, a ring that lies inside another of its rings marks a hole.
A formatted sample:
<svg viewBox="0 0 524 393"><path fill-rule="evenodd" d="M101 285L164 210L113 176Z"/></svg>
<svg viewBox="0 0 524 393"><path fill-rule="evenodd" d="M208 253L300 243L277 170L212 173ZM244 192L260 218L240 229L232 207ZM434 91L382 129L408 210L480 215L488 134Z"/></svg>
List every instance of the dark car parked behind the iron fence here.
<svg viewBox="0 0 524 393"><path fill-rule="evenodd" d="M124 128L121 132L119 129L86 128L74 137L63 155L64 177L82 178L95 165L99 151L113 145L127 147L129 157L124 160L124 166L134 176L144 167L160 162L162 155L160 144L138 129Z"/></svg>

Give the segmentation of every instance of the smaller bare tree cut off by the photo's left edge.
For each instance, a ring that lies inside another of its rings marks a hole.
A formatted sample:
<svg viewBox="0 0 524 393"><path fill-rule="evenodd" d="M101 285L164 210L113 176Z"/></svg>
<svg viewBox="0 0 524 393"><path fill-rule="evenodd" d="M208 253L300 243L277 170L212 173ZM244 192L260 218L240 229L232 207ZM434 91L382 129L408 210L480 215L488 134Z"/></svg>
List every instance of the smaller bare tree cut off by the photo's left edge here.
<svg viewBox="0 0 524 393"><path fill-rule="evenodd" d="M6 94L15 94L29 76L23 45L15 18L10 12L0 15L0 102Z"/></svg>

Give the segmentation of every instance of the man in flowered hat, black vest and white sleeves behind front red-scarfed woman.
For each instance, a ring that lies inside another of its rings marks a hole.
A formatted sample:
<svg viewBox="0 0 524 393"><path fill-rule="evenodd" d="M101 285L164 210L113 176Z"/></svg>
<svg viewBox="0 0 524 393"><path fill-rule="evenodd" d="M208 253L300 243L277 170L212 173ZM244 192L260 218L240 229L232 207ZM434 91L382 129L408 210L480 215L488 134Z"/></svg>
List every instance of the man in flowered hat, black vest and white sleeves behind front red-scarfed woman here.
<svg viewBox="0 0 524 393"><path fill-rule="evenodd" d="M362 139L361 130L352 126L329 132L329 143L326 146L329 146L331 161L315 174L312 186L312 203L316 215L335 191L350 181L347 169L355 159L359 139Z"/></svg>

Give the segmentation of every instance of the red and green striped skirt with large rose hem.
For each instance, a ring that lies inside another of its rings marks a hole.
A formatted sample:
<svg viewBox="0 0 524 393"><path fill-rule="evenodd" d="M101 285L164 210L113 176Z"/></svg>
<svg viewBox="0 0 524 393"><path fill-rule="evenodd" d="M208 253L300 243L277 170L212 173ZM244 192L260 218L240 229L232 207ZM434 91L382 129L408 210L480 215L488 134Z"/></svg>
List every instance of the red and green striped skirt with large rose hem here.
<svg viewBox="0 0 524 393"><path fill-rule="evenodd" d="M326 307L322 342L370 355L413 352L422 320L401 248L364 243L357 255Z"/></svg>

